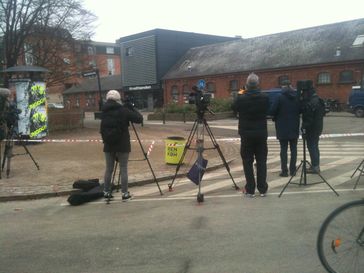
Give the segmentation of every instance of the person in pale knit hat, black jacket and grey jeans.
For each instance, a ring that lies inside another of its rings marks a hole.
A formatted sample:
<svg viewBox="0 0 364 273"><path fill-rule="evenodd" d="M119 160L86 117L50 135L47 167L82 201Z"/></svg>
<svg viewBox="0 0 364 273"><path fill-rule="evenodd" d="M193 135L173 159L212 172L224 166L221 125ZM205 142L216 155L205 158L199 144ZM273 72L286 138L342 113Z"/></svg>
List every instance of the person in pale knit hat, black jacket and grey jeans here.
<svg viewBox="0 0 364 273"><path fill-rule="evenodd" d="M133 108L122 105L120 94L116 90L110 90L106 95L106 103L102 107L100 132L102 135L108 128L107 124L115 124L118 129L118 137L112 143L105 142L104 148L106 169L104 176L104 196L112 198L111 176L115 162L119 162L122 200L131 198L128 191L128 159L131 152L129 122L142 123L143 116ZM114 122L114 123L113 123ZM115 129L115 128L114 128Z"/></svg>

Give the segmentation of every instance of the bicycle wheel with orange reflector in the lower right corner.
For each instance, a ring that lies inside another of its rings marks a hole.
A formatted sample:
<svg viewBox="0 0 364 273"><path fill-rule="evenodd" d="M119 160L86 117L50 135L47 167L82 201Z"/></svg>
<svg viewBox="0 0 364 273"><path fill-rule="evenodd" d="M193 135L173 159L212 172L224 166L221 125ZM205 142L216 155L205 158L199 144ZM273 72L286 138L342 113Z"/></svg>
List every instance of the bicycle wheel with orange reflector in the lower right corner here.
<svg viewBox="0 0 364 273"><path fill-rule="evenodd" d="M361 273L364 269L364 199L335 209L323 222L317 252L330 273Z"/></svg>

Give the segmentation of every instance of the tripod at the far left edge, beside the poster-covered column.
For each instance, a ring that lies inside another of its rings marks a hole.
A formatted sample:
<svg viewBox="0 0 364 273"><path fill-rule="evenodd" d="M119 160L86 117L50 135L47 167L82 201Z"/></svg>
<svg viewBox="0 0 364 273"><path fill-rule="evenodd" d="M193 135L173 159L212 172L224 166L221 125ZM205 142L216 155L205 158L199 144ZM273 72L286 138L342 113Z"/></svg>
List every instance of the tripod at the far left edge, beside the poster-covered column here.
<svg viewBox="0 0 364 273"><path fill-rule="evenodd" d="M20 145L23 146L23 148L25 150L25 153L23 153L23 154L13 154L14 136L16 137L17 140L19 140L18 143L20 143ZM0 154L1 154L1 151L0 151ZM13 156L17 156L17 155L29 155L29 157L33 161L34 165L39 170L38 163L35 161L34 157L30 153L29 149L27 148L27 146L25 145L25 143L22 141L21 135L19 133L16 133L15 132L14 126L11 126L9 128L9 131L8 131L8 134L7 134L7 138L6 138L6 142L5 142L4 155L3 155L3 160L2 160L2 164L1 164L1 170L0 170L0 179L2 178L2 175L1 174L2 174L2 172L4 170L5 163L6 163L6 178L9 178L10 166L11 166L11 158ZM1 155L0 155L0 161L1 161Z"/></svg>

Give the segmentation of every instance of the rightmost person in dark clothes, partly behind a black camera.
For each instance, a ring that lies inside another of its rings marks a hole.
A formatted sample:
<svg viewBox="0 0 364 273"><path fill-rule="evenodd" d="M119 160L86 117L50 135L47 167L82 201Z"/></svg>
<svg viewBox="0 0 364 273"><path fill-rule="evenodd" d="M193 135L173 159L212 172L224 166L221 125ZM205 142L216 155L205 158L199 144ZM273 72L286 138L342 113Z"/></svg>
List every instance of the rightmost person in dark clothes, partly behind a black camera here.
<svg viewBox="0 0 364 273"><path fill-rule="evenodd" d="M307 173L320 172L320 150L319 139L323 129L323 118L325 115L325 104L316 94L312 82L302 89L302 136L306 139L307 149L311 158L311 167Z"/></svg>

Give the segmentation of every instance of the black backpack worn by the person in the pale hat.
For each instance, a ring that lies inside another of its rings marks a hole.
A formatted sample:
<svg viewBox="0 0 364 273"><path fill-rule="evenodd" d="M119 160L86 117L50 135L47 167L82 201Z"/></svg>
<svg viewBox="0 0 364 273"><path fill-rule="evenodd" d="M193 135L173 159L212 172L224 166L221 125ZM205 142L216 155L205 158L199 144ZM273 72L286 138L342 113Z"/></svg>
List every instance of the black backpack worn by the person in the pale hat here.
<svg viewBox="0 0 364 273"><path fill-rule="evenodd" d="M120 120L112 115L101 119L101 137L105 144L115 145L121 141Z"/></svg>

